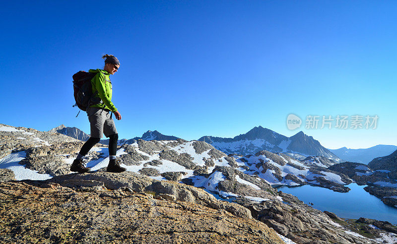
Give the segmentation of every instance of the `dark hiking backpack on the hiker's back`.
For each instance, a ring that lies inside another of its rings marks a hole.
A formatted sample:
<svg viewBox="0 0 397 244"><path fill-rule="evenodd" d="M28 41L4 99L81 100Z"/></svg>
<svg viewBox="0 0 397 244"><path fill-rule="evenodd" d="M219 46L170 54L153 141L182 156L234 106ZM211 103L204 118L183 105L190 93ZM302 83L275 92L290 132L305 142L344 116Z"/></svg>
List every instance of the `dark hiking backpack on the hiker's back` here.
<svg viewBox="0 0 397 244"><path fill-rule="evenodd" d="M87 111L87 108L90 105L90 99L92 97L91 80L96 74L97 73L78 71L73 75L74 100L76 101L73 107L77 106L81 110Z"/></svg>

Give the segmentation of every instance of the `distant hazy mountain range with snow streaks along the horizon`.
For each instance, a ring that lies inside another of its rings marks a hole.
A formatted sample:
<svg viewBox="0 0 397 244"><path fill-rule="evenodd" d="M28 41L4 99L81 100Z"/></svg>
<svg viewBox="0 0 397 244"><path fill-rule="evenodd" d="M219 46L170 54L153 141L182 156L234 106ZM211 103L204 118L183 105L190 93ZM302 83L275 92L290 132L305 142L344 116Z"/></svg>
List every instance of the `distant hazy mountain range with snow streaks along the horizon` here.
<svg viewBox="0 0 397 244"><path fill-rule="evenodd" d="M81 141L86 141L89 138L89 135L78 128L66 127L65 125L56 127L49 132L58 132ZM118 144L132 144L139 139L144 141L174 141L179 138L163 135L156 130L149 130L143 133L141 137L121 139ZM198 141L206 142L227 154L248 155L255 154L261 150L267 150L274 153L282 152L299 160L304 160L308 156L322 156L336 163L350 161L367 164L372 159L389 155L397 149L397 146L393 145L377 145L361 149L349 149L346 147L327 149L319 141L304 134L302 131L291 137L286 137L262 126L254 127L249 132L234 138L203 136ZM100 143L107 145L109 140L101 140Z"/></svg>

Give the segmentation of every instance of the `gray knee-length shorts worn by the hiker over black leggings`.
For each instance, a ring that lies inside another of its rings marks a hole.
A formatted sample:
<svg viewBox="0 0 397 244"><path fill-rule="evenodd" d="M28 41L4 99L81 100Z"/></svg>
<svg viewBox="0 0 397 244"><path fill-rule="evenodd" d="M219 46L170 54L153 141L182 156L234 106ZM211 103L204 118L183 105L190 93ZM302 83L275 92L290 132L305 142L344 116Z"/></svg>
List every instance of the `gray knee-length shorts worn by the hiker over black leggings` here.
<svg viewBox="0 0 397 244"><path fill-rule="evenodd" d="M99 107L89 107L87 109L88 120L91 125L90 137L102 138L102 132L105 137L117 134L115 121L110 117L110 113Z"/></svg>

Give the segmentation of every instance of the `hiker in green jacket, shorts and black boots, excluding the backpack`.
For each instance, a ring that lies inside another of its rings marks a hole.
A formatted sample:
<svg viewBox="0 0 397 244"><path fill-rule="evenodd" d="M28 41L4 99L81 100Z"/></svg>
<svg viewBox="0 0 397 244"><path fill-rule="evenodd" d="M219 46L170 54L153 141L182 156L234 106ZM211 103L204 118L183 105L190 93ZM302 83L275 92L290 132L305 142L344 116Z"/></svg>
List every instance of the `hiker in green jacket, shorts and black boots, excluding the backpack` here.
<svg viewBox="0 0 397 244"><path fill-rule="evenodd" d="M90 106L87 109L88 120L91 125L91 135L88 141L81 147L77 158L74 159L70 171L78 173L86 173L90 168L86 168L83 162L84 156L88 151L102 138L102 132L106 137L109 137L109 165L108 172L121 173L126 171L126 168L120 166L120 159L116 157L117 141L119 136L117 134L115 122L112 119L111 112L114 113L117 120L121 120L121 114L113 104L112 100L112 83L110 82L110 75L117 72L120 67L120 62L117 57L113 55L104 55L105 67L103 69L90 69L88 72L97 73L91 80L92 94Z"/></svg>

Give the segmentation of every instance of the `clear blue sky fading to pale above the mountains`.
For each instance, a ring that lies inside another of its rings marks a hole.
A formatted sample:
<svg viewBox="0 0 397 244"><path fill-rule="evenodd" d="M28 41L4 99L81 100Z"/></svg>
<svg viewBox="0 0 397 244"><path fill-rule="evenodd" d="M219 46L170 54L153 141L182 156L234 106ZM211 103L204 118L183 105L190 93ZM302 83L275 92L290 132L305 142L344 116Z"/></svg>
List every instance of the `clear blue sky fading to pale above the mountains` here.
<svg viewBox="0 0 397 244"><path fill-rule="evenodd" d="M71 76L111 76L120 138L186 140L254 126L323 146L397 145L396 1L9 1L1 9L0 123L41 131L75 118ZM375 130L286 127L286 117L378 115Z"/></svg>

